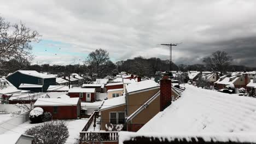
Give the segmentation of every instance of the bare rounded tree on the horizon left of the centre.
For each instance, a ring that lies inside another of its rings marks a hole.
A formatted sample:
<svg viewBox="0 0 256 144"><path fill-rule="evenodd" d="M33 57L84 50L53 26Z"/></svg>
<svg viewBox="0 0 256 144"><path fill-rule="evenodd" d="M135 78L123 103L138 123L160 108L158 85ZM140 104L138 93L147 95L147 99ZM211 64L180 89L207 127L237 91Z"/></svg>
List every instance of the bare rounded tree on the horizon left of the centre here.
<svg viewBox="0 0 256 144"><path fill-rule="evenodd" d="M88 66L91 76L97 74L97 77L102 77L105 66L109 63L109 55L107 50L97 49L89 53L85 64Z"/></svg>

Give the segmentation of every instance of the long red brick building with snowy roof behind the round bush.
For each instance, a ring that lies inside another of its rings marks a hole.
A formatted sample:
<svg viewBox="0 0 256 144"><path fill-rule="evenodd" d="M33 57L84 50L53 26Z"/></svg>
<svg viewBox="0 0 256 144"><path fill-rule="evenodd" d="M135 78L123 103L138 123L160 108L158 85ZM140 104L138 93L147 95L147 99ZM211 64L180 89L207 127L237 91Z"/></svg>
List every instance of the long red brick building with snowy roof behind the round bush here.
<svg viewBox="0 0 256 144"><path fill-rule="evenodd" d="M53 119L77 119L80 117L79 98L39 98L34 107L41 107L44 112L50 112Z"/></svg>

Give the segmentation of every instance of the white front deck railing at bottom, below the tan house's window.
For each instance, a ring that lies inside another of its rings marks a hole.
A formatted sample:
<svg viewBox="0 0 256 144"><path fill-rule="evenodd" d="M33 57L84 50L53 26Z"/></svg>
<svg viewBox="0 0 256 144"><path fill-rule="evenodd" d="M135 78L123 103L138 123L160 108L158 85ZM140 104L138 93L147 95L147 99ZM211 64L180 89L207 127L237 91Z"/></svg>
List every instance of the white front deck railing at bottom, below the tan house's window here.
<svg viewBox="0 0 256 144"><path fill-rule="evenodd" d="M81 131L80 141L118 141L118 131Z"/></svg>

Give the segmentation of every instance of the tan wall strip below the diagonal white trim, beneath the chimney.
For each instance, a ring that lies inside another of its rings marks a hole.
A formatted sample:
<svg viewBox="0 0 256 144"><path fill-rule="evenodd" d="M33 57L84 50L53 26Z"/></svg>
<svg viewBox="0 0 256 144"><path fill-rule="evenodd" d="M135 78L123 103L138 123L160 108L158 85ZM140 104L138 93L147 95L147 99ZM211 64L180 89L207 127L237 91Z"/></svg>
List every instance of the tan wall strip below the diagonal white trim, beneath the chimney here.
<svg viewBox="0 0 256 144"><path fill-rule="evenodd" d="M137 116L135 116L132 124L146 124L152 119L158 112L160 112L160 95L148 105L146 109L143 109Z"/></svg>

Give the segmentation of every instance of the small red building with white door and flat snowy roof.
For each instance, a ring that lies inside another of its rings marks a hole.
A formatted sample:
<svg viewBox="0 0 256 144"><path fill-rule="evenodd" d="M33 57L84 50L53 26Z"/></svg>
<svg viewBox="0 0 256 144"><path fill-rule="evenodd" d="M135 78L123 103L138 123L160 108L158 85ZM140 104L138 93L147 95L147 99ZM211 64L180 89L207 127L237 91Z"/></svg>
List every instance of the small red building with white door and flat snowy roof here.
<svg viewBox="0 0 256 144"><path fill-rule="evenodd" d="M81 101L94 102L96 91L95 88L71 88L68 95L71 98L80 98Z"/></svg>

